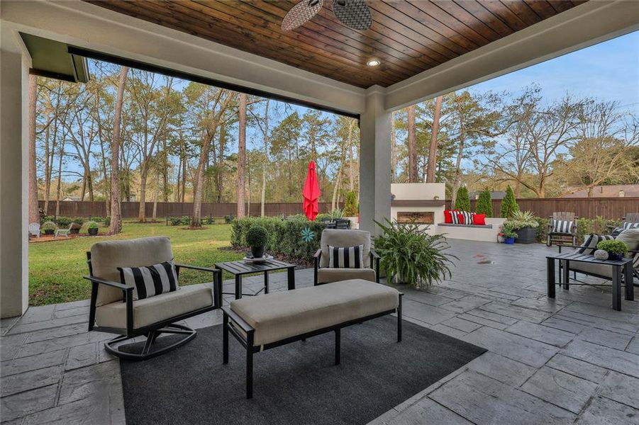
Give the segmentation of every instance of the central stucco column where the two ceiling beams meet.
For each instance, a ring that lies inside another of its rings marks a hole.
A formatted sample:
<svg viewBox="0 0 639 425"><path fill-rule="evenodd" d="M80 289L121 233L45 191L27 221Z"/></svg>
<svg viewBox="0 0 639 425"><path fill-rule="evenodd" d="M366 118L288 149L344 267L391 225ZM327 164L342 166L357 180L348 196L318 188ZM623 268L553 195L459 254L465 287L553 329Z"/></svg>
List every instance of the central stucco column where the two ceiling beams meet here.
<svg viewBox="0 0 639 425"><path fill-rule="evenodd" d="M391 216L391 113L384 98L382 87L369 88L360 120L360 229L373 234L374 220Z"/></svg>

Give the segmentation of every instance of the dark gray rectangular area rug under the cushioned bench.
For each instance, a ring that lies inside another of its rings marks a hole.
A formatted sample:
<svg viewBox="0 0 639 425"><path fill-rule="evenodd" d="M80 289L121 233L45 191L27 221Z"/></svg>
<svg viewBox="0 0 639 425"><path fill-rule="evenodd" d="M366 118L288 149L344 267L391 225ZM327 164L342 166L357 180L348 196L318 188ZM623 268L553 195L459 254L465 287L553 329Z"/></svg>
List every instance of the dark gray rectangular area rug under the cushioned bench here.
<svg viewBox="0 0 639 425"><path fill-rule="evenodd" d="M396 318L256 353L253 399L245 399L245 350L221 325L147 361L121 361L126 422L140 424L367 424L484 353L484 348ZM167 336L163 339L170 339ZM136 344L131 344L136 345Z"/></svg>

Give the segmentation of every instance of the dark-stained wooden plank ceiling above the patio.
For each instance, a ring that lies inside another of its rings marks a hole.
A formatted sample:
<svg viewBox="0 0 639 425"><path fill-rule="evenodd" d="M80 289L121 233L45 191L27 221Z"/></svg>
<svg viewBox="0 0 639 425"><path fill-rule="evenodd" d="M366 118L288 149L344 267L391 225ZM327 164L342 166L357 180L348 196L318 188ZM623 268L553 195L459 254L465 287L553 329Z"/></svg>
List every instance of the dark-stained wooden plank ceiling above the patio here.
<svg viewBox="0 0 639 425"><path fill-rule="evenodd" d="M283 31L287 0L85 0L348 84L389 86L586 0L374 0L368 30L352 30L324 0L311 21ZM376 58L378 67L367 67Z"/></svg>

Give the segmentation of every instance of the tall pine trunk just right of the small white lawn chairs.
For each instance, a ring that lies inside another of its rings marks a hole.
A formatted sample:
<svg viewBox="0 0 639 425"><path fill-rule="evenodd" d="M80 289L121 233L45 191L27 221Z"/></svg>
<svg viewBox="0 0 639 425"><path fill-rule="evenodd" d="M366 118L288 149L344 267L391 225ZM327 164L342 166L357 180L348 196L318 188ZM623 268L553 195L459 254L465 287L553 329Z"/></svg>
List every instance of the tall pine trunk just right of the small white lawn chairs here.
<svg viewBox="0 0 639 425"><path fill-rule="evenodd" d="M116 98L115 111L113 112L113 137L111 138L111 234L120 233L122 220L120 212L120 122L122 118L122 103L124 101L124 86L128 67L120 68L118 81L118 97Z"/></svg>

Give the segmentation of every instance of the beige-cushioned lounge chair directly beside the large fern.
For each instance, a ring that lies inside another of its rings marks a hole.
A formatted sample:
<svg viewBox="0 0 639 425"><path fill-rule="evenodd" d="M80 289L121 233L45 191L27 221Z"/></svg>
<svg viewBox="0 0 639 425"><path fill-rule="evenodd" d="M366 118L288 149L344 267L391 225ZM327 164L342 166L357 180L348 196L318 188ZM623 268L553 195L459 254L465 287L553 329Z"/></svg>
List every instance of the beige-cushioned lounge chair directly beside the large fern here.
<svg viewBox="0 0 639 425"><path fill-rule="evenodd" d="M359 245L364 246L360 268L330 266L328 246L344 248ZM324 229L320 249L315 253L314 260L313 282L315 285L348 279L364 279L379 283L379 256L371 246L370 232L365 230Z"/></svg>

